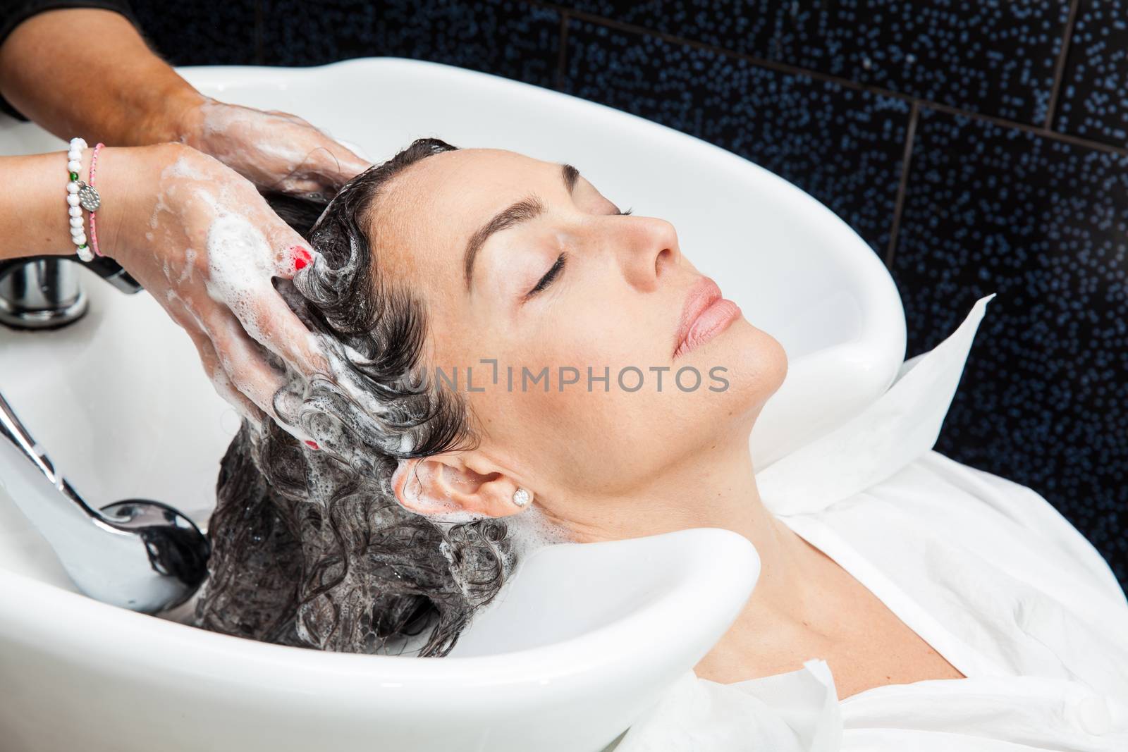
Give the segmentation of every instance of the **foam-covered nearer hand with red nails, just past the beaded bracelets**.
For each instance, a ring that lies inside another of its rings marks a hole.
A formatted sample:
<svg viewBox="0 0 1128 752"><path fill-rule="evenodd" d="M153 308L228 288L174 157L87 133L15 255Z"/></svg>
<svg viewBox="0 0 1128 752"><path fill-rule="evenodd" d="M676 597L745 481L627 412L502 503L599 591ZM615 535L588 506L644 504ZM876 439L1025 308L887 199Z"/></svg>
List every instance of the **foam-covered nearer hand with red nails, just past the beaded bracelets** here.
<svg viewBox="0 0 1128 752"><path fill-rule="evenodd" d="M321 260L254 185L212 157L166 143L103 149L97 187L99 250L188 333L217 391L246 417L277 421L273 399L283 386L328 373L317 339L271 283ZM289 372L271 365L267 350Z"/></svg>

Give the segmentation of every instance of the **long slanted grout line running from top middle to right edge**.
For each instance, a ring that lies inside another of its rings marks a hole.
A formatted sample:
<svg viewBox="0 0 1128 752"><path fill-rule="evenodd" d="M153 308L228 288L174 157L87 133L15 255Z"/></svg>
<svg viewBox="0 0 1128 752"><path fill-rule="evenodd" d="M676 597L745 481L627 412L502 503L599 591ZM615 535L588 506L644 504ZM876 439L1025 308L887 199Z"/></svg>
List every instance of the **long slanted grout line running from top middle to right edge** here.
<svg viewBox="0 0 1128 752"><path fill-rule="evenodd" d="M1074 0L1076 1L1076 0ZM890 97L892 99L900 99L901 101L907 101L910 104L919 104L922 107L928 107L931 109L936 109L942 113L948 113L950 115L962 115L971 120L986 121L988 123L995 123L996 125L1002 125L1005 127L1019 129L1026 131L1028 133L1034 133L1046 139L1054 141L1063 141L1077 147L1085 147L1089 149L1095 149L1099 151L1104 151L1114 154L1128 156L1128 147L1116 147L1109 143L1102 143L1100 141L1090 141L1087 139L1082 139L1075 135L1069 135L1068 133L1058 133L1057 131L1051 131L1045 125L1031 125L1030 123L1022 123L1019 121L1012 121L1006 117L998 117L996 115L986 115L984 113L977 113L971 109L963 109L961 107L953 107L952 105L941 104L938 101L933 101L931 99L924 99L922 97L914 97L900 91L893 91L892 89L884 89L878 86L872 86L869 83L858 83L857 81L852 81L847 78L841 78L839 76L831 76L830 73L823 73L821 71L812 70L810 68L800 68L797 65L790 65L787 63L776 62L774 60L767 60L764 57L757 57L755 55L744 54L742 52L734 52L732 50L725 50L724 47L717 47L715 45L705 44L704 42L697 42L695 39L686 39L684 37L678 37L672 34L667 34L664 32L656 32L654 29L644 28L642 26L633 26L631 24L624 24L623 21L617 21L611 18L603 18L602 16L596 16L594 14L587 14L579 10L571 10L564 6L558 6L552 2L544 2L543 0L525 0L526 5L536 6L538 8L548 8L556 10L557 12L567 12L575 19L589 21L591 24L599 24L600 26L607 26L610 28L617 28L623 32L629 32L632 34L645 34L647 36L654 36L667 42L672 42L675 44L684 44L686 46L696 47L705 52L712 52L715 54L726 55L729 57L744 60L759 68L766 68L768 70L778 71L781 73L786 73L788 76L803 76L805 78L811 78L817 81L828 81L830 83L837 83L838 86L847 89L853 89L855 91L867 91L870 94L879 95L882 97Z"/></svg>

